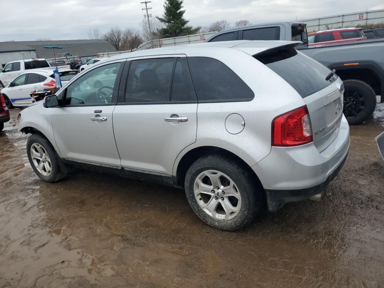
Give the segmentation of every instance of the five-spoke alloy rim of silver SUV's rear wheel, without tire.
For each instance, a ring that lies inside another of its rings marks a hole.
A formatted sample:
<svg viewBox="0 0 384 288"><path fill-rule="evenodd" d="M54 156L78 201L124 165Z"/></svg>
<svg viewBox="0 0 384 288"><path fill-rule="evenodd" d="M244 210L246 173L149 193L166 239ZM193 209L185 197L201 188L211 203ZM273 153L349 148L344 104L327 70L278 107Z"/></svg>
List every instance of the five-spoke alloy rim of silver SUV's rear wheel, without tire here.
<svg viewBox="0 0 384 288"><path fill-rule="evenodd" d="M200 208L215 220L231 220L241 209L241 195L232 179L217 170L197 176L194 195Z"/></svg>

